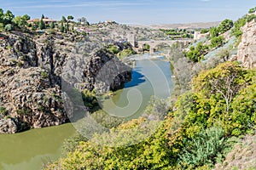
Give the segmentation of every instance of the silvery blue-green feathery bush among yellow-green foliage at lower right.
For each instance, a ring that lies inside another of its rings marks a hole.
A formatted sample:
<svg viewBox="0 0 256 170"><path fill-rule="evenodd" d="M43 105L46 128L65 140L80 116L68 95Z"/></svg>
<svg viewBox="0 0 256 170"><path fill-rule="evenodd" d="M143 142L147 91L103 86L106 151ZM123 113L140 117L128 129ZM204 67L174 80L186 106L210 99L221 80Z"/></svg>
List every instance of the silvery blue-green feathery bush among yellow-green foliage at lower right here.
<svg viewBox="0 0 256 170"><path fill-rule="evenodd" d="M224 152L232 143L224 138L223 128L204 129L193 139L183 141L183 150L178 154L179 164L185 169L195 169L204 165L213 167L217 161L224 159Z"/></svg>

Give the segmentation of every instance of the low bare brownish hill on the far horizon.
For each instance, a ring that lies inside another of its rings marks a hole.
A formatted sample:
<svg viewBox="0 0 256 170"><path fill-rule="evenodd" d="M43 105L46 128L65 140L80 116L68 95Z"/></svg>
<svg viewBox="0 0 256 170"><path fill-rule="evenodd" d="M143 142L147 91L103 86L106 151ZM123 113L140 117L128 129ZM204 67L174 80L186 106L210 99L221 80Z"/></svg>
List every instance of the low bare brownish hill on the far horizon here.
<svg viewBox="0 0 256 170"><path fill-rule="evenodd" d="M145 26L145 25L131 25L131 26L137 26L137 27L147 27L147 28L154 28L154 29L198 29L198 28L210 28L212 26L218 26L220 21L216 22L198 22L198 23L185 23L185 24L159 24L159 25L151 25L151 26Z"/></svg>

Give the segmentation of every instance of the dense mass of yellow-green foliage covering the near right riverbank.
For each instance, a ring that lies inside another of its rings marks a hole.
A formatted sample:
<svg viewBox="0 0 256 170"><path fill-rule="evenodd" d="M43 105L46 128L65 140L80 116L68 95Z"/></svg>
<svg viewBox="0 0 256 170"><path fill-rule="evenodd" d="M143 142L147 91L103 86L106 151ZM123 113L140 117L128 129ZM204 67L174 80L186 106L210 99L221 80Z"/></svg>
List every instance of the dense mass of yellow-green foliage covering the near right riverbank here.
<svg viewBox="0 0 256 170"><path fill-rule="evenodd" d="M231 62L203 71L192 82L194 90L177 99L173 111L148 138L131 143L131 136L142 137L139 129L147 132L155 125L146 118L132 120L89 141L75 140L77 146L71 146L67 157L47 169L211 169L223 161L237 137L255 130L255 74ZM233 77L230 85L225 81L229 77ZM228 86L234 91L229 111L221 93L228 93ZM126 133L127 129L131 131ZM132 145L108 145L113 142Z"/></svg>

